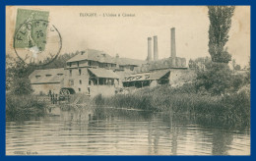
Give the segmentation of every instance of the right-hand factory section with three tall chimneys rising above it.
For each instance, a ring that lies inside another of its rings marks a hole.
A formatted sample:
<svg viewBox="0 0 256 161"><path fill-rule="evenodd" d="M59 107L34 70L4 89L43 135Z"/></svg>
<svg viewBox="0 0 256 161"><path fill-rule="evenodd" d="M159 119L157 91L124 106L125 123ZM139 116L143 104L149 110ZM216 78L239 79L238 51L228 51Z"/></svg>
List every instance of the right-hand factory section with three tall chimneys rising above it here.
<svg viewBox="0 0 256 161"><path fill-rule="evenodd" d="M154 57L152 56L152 49L154 49ZM155 35L154 45L152 45L152 37L148 37L148 56L146 60L147 63L136 67L137 74L124 77L123 86L143 87L166 83L182 85L195 77L194 71L188 70L186 59L176 56L174 27L170 28L170 57L159 59L158 36Z"/></svg>

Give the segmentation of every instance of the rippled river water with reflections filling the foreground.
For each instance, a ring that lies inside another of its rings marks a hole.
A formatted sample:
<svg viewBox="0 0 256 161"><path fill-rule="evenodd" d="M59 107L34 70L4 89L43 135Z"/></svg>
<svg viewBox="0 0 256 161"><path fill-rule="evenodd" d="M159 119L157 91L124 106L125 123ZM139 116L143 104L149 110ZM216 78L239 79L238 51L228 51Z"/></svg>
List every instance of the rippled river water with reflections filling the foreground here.
<svg viewBox="0 0 256 161"><path fill-rule="evenodd" d="M248 155L249 130L199 126L187 116L76 107L60 116L6 123L6 154Z"/></svg>

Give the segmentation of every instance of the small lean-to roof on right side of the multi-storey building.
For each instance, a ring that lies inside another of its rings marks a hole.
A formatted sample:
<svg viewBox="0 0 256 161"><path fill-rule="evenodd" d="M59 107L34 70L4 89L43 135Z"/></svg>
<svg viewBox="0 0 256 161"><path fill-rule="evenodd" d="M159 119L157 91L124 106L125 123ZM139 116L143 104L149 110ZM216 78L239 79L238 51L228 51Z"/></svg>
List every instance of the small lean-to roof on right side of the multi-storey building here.
<svg viewBox="0 0 256 161"><path fill-rule="evenodd" d="M111 70L105 70L105 69L88 69L88 70L91 71L94 75L96 75L97 78L119 79L119 76Z"/></svg>

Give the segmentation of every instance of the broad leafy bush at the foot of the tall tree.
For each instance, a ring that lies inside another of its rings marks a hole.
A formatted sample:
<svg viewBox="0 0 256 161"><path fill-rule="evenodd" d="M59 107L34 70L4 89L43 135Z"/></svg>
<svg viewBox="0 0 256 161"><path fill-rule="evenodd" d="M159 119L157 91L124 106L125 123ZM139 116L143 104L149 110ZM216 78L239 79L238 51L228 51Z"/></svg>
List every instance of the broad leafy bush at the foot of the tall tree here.
<svg viewBox="0 0 256 161"><path fill-rule="evenodd" d="M198 92L221 95L235 92L248 83L248 72L245 75L232 72L225 63L206 61L204 67L197 69L195 86Z"/></svg>

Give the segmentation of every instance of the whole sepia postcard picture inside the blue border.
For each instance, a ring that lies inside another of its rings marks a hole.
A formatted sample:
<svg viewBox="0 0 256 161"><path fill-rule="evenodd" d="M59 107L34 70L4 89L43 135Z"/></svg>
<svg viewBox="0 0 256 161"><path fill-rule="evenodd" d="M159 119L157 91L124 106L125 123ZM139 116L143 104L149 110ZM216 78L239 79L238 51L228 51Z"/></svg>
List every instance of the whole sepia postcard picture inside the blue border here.
<svg viewBox="0 0 256 161"><path fill-rule="evenodd" d="M6 155L251 155L250 6L6 6Z"/></svg>

